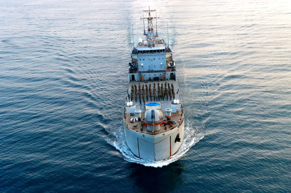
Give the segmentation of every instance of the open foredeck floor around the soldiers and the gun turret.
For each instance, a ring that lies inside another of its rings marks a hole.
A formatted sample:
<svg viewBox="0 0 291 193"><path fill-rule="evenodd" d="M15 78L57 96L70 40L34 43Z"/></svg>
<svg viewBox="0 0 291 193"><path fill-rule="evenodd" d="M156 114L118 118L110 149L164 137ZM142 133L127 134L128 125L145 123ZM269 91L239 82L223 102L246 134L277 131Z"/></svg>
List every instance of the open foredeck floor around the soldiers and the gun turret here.
<svg viewBox="0 0 291 193"><path fill-rule="evenodd" d="M142 105L140 105L139 92L138 92L139 85L141 85L141 93L142 93L142 85L148 85L149 86L149 84L151 84L152 95L154 95L153 94L153 84L154 83L156 84L156 96L158 96L157 83L159 83L160 86L161 86L161 83L163 83L163 85L164 85L164 83L166 83L166 84L169 83L170 84L170 88L171 88L171 84L173 83L174 91L175 91L175 99L178 99L180 101L180 103L176 105L176 110L173 110L172 116L171 116L171 120L175 121L176 123L171 124L171 125L167 124L166 126L164 126L164 124L162 124L161 125L161 129L159 131L148 131L147 128L146 128L147 126L141 124L142 121L136 121L135 123L131 123L130 122L131 118L135 116L135 114L130 114L130 107L125 105L125 110L123 112L124 121L125 121L125 123L127 123L127 126L130 129L132 129L132 130L134 130L136 132L149 134L149 135L156 135L156 134L164 133L164 132L167 132L167 131L175 128L175 126L179 125L178 121L181 120L182 116L184 116L184 110L183 110L182 99L181 99L181 95L180 95L180 89L179 89L179 86L178 86L178 83L177 83L176 80L150 81L150 82L130 81L129 84L128 84L127 94L130 95L132 85L136 85L137 86L137 93L138 93L137 94L137 100L135 101L135 96L134 96L133 97L133 101L132 100L131 101L134 103L136 110L139 109L139 110L142 111L141 112L141 119L143 119L143 117L145 117L146 103L157 102L157 103L161 104L161 109L159 109L160 115L164 117L165 121L167 121L165 109L171 108L171 103L173 101L173 96L172 96L172 100L170 100L170 97L168 97L168 100L167 100L166 97L164 98L164 100L162 100L162 99L154 100L153 97L152 97L152 101L150 101L150 97L148 97L148 101L147 101L146 100L146 94L145 94L145 105L144 105L143 104L143 97L142 97L142 94L141 94ZM167 88L168 88L168 86L167 86ZM178 91L178 94L177 94L177 91ZM127 94L126 94L126 96L127 96ZM125 104L127 102L129 102L128 99L125 100ZM177 111L177 112L175 112L175 111Z"/></svg>

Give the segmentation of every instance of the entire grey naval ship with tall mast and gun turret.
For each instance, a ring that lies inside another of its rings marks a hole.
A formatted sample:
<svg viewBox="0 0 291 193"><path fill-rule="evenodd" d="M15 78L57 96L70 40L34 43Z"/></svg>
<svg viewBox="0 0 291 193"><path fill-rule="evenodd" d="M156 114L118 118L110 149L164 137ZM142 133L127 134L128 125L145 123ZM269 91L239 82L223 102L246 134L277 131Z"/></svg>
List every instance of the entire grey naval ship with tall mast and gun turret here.
<svg viewBox="0 0 291 193"><path fill-rule="evenodd" d="M159 161L177 153L184 138L185 118L172 49L153 29L153 21L157 28L159 19L151 16L155 11L143 10L148 14L141 18L144 38L132 48L123 123L132 153Z"/></svg>

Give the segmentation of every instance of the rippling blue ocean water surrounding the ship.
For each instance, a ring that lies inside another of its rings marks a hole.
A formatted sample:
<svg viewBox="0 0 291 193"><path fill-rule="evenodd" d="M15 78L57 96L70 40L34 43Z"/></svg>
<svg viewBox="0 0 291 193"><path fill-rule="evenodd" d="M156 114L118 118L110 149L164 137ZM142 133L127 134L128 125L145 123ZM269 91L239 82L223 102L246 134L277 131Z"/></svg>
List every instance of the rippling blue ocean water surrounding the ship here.
<svg viewBox="0 0 291 193"><path fill-rule="evenodd" d="M156 163L121 121L148 6L186 111ZM291 1L1 0L0 192L291 192L290 51Z"/></svg>

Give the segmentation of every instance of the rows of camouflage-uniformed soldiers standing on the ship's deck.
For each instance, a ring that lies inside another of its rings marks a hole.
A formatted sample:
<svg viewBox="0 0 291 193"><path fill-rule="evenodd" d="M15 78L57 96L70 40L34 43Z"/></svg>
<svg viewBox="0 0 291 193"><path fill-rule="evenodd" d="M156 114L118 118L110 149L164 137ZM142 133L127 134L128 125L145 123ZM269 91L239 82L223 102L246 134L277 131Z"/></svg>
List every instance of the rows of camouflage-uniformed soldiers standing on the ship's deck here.
<svg viewBox="0 0 291 193"><path fill-rule="evenodd" d="M160 83L157 84L158 88L158 92L157 92L157 95L156 95L156 84L154 83L154 86L153 86L153 93L152 93L152 88L151 88L151 84L149 85L138 85L139 86L139 89L137 90L137 86L136 85L132 85L131 86L131 94L129 96L129 94L127 94L127 97L128 97L128 100L130 101L133 100L133 94L134 94L134 98L135 98L135 102L137 102L137 93L139 94L139 104L142 105L142 102L143 102L143 105L145 105L145 99L146 101L148 101L148 93L150 94L150 101L152 101L152 97L154 98L154 101L164 101L165 99L169 99L170 97L170 100L172 100L172 97L173 99L175 99L175 90L174 90L174 85L173 83L171 84L171 87L170 87L170 83L161 83L161 86L160 86Z"/></svg>

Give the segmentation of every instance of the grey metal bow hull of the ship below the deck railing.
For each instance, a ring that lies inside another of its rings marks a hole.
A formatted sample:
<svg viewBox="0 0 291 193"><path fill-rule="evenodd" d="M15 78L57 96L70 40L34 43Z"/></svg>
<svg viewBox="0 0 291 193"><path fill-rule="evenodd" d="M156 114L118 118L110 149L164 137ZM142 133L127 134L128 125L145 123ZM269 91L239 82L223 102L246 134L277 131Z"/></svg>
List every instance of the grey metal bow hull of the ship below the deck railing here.
<svg viewBox="0 0 291 193"><path fill-rule="evenodd" d="M173 156L184 139L184 121L180 127L158 135L145 135L124 125L125 141L134 155L141 159L159 161ZM180 142L175 141L179 133Z"/></svg>

